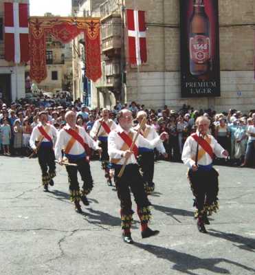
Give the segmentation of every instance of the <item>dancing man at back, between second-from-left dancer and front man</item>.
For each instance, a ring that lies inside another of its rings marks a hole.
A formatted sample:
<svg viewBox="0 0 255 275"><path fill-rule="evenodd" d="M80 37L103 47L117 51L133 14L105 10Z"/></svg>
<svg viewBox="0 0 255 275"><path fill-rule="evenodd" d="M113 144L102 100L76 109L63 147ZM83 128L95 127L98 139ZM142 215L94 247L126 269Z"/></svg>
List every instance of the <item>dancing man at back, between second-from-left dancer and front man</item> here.
<svg viewBox="0 0 255 275"><path fill-rule="evenodd" d="M96 120L93 124L93 128L90 131L90 135L93 140L99 140L99 146L102 148L102 154L100 160L102 162L102 169L104 170L104 177L107 179L107 184L112 186L111 177L109 173L109 155L107 148L107 140L109 133L117 127L115 122L109 119L109 110L102 109L102 118Z"/></svg>

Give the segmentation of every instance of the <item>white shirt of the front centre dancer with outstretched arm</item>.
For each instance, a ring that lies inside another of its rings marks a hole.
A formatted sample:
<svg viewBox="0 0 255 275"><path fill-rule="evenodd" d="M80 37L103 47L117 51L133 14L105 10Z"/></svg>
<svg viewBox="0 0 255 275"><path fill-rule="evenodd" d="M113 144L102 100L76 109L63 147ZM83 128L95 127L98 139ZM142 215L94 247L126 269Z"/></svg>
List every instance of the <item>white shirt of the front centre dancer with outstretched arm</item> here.
<svg viewBox="0 0 255 275"><path fill-rule="evenodd" d="M122 154L124 151L121 150L122 146L124 145L124 140L122 140L122 137L118 135L119 133L125 132L127 135L131 132L133 133L133 140L135 139L135 134L137 133L134 129L130 129L129 133L124 131L120 125L117 126L115 131L111 131L109 133L108 137L108 154L109 157L112 159L120 159L120 162L118 164L124 164L125 158L122 157ZM162 140L160 140L160 137L155 137L154 140L146 140L142 135L138 135L137 140L135 142L135 145L138 147L146 147L146 148L155 148L155 146L162 143ZM135 155L131 155L129 157L128 162L126 164L137 164L137 160L135 159Z"/></svg>

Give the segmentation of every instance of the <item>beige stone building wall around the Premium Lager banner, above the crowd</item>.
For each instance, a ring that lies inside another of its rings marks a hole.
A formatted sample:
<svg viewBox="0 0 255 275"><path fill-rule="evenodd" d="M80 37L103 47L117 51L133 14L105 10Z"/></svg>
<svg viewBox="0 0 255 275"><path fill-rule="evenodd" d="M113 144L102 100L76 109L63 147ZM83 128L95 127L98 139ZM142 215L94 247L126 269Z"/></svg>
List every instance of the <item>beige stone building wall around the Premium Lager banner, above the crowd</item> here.
<svg viewBox="0 0 255 275"><path fill-rule="evenodd" d="M254 0L219 0L220 98L181 98L179 0L126 0L126 8L146 11L148 62L127 67L127 101L148 107L182 104L223 111L230 108L255 109ZM159 23L161 26L155 26ZM138 92L137 92L138 91Z"/></svg>

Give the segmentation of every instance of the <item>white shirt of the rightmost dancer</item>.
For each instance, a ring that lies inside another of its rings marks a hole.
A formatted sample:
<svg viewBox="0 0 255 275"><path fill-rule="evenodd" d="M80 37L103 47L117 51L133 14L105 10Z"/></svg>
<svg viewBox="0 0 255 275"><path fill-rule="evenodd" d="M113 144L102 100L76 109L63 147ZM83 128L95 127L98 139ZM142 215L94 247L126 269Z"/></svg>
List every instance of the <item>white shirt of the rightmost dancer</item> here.
<svg viewBox="0 0 255 275"><path fill-rule="evenodd" d="M197 132L197 135L199 133ZM212 135L207 135L207 137L210 139L210 146L212 147L212 151L214 152L217 157L225 157L223 155L223 152L225 149L221 147L221 145L215 140L215 138ZM201 146L199 145L199 150L201 150ZM195 164L195 158L197 154L197 142L194 140L194 138L190 135L185 144L184 144L184 150L182 151L181 160L184 162L185 165L192 167L193 164ZM198 160L197 164L200 165L210 165L212 164L212 158L208 153L205 153L201 159Z"/></svg>

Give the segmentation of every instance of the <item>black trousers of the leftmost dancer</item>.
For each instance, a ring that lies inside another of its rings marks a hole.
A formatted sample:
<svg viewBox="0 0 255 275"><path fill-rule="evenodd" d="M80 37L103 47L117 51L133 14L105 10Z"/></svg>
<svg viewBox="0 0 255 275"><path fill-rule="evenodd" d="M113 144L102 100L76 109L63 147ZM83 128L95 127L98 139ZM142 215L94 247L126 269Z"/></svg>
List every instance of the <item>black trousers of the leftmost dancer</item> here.
<svg viewBox="0 0 255 275"><path fill-rule="evenodd" d="M38 162L42 170L43 185L49 184L56 176L55 155L52 147L40 147L37 152Z"/></svg>

